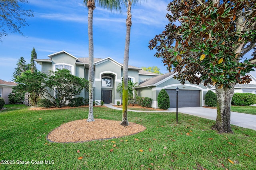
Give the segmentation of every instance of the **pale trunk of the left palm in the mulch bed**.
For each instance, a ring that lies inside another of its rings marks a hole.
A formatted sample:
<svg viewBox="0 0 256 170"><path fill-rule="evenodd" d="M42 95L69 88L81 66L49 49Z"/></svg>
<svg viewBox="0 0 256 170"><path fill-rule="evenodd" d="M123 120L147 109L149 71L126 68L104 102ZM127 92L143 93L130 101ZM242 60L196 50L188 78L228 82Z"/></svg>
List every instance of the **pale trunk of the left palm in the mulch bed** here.
<svg viewBox="0 0 256 170"><path fill-rule="evenodd" d="M89 39L89 114L87 122L94 121L93 117L93 55L94 55L94 47L93 47L93 30L92 30L92 18L93 18L93 10L95 8L94 0L87 2L88 6L88 39Z"/></svg>

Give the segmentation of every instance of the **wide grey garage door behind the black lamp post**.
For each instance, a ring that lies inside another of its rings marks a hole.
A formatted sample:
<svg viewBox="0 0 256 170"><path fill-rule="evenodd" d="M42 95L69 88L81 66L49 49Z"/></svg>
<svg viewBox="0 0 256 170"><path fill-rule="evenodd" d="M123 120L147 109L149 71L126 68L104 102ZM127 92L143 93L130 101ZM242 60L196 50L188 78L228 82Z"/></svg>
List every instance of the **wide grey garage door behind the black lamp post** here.
<svg viewBox="0 0 256 170"><path fill-rule="evenodd" d="M176 91L166 91L170 98L170 108L176 107ZM200 107L200 90L179 90L178 107Z"/></svg>

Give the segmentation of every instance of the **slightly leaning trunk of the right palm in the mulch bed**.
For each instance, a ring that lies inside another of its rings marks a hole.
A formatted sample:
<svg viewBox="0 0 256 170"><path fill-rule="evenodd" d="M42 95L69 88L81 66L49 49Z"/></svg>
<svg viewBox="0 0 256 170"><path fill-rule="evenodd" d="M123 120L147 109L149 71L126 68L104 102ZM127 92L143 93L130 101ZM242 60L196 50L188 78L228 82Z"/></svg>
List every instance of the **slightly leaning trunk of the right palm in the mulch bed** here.
<svg viewBox="0 0 256 170"><path fill-rule="evenodd" d="M127 19L126 19L126 37L124 47L124 68L123 68L123 116L120 125L128 126L128 61L129 61L129 48L130 48L130 33L132 26L131 2L128 0Z"/></svg>

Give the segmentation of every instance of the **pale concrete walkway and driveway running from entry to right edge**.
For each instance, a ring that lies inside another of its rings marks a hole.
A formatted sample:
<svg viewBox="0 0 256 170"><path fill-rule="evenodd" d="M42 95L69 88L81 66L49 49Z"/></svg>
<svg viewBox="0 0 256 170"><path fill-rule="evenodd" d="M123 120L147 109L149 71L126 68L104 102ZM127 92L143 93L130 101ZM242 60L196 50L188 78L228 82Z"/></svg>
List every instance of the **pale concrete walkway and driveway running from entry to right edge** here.
<svg viewBox="0 0 256 170"><path fill-rule="evenodd" d="M122 110L122 108L114 107L113 105L106 104L106 107L116 110ZM176 108L169 108L166 111L135 111L130 110L132 112L176 112ZM210 120L216 120L217 113L216 109L210 109L205 107L181 107L178 108L179 113L185 113L188 115L193 115L197 117L202 117ZM231 122L232 125L236 125L239 127L250 128L256 130L256 115L250 115L245 113L237 113L231 112Z"/></svg>

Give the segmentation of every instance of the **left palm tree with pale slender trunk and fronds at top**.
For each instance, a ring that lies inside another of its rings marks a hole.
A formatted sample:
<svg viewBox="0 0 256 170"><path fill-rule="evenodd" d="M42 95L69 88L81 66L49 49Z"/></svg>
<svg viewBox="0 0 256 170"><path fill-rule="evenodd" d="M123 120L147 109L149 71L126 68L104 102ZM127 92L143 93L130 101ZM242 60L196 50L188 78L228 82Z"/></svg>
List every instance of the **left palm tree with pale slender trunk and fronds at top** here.
<svg viewBox="0 0 256 170"><path fill-rule="evenodd" d="M94 47L93 47L93 32L92 32L92 21L93 21L93 10L96 8L95 0L84 0L84 5L88 7L88 39L89 39L89 114L88 122L94 121L93 117L93 58L94 58ZM110 10L121 10L119 0L98 0L98 5L103 8Z"/></svg>

